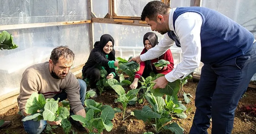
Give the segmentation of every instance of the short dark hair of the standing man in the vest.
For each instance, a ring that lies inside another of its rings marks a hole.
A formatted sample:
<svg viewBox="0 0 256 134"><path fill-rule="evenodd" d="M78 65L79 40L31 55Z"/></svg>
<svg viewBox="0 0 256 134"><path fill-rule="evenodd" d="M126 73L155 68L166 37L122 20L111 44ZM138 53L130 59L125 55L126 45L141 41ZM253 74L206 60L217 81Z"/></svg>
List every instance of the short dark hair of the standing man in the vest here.
<svg viewBox="0 0 256 134"><path fill-rule="evenodd" d="M157 15L166 15L170 7L161 1L151 1L146 4L141 13L141 20L145 21L147 17L149 20L156 20Z"/></svg>

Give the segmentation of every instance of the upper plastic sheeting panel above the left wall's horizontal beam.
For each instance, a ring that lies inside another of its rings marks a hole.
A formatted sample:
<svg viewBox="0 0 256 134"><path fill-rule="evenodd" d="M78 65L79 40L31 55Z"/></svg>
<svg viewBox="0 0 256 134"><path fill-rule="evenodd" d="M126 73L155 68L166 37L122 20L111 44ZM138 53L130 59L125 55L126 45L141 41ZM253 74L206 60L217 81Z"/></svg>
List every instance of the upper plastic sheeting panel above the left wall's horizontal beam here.
<svg viewBox="0 0 256 134"><path fill-rule="evenodd" d="M0 24L87 20L87 0L0 0Z"/></svg>

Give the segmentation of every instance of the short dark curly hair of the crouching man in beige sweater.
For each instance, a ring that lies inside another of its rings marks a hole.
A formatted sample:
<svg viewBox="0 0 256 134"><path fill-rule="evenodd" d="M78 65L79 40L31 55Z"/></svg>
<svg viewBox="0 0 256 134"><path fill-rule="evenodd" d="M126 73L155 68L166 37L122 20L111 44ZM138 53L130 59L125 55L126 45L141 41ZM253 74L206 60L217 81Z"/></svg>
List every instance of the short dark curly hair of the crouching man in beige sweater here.
<svg viewBox="0 0 256 134"><path fill-rule="evenodd" d="M68 46L58 46L55 47L52 51L51 51L51 56L50 59L52 60L53 64L55 65L56 63L58 63L58 60L60 57L65 58L66 60L74 60L75 58L75 54L73 53L72 50L70 50L68 48Z"/></svg>

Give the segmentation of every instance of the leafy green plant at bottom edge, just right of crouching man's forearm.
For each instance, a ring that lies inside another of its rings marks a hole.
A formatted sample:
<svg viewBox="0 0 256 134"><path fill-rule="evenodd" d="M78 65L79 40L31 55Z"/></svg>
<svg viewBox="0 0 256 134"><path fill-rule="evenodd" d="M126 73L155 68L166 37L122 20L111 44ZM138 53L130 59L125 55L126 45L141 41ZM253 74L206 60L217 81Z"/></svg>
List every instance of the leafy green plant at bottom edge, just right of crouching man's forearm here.
<svg viewBox="0 0 256 134"><path fill-rule="evenodd" d="M94 128L98 130L98 133L101 133L104 129L108 132L112 130L113 124L111 120L114 118L115 112L110 106L102 105L102 103L97 103L92 99L85 100L84 104L87 111L86 117L71 115L71 118L80 121L83 127L89 130L89 133L93 133Z"/></svg>

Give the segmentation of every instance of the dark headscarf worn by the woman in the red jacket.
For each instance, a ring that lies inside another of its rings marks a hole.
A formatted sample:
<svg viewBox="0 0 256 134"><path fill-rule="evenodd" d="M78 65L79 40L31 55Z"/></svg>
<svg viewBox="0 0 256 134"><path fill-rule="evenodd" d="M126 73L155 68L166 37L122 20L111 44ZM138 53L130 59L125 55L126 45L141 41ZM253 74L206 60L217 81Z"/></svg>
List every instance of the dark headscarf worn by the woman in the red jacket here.
<svg viewBox="0 0 256 134"><path fill-rule="evenodd" d="M155 33L153 32L148 32L144 35L143 37L143 46L145 44L145 40L149 40L150 44L152 45L152 48L155 47L157 44L158 44L158 37ZM145 46L144 46L145 47ZM145 52L147 52L147 49L145 49ZM150 60L146 60L145 61L145 68L148 70L148 71L153 71L153 68L152 68L152 65L151 65L151 61Z"/></svg>

